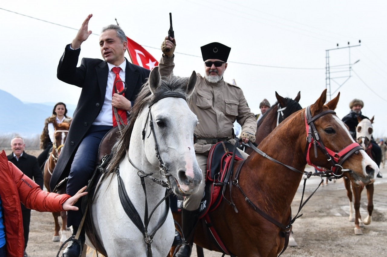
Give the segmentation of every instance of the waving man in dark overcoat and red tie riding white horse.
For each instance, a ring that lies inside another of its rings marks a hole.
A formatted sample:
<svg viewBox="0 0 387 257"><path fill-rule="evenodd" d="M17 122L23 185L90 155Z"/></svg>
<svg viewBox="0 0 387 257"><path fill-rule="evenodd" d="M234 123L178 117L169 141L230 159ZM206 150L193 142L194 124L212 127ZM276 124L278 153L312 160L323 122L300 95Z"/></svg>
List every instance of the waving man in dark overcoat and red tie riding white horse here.
<svg viewBox="0 0 387 257"><path fill-rule="evenodd" d="M124 53L127 49L127 38L116 25L104 27L99 37L104 60L83 58L81 65L77 67L80 45L91 34L91 31L88 31L91 17L92 14L87 16L77 36L66 46L57 70L60 80L82 88L65 146L50 182L50 188L53 189L61 179L68 176L66 191L71 196L87 185L92 176L99 143L113 128L115 116L112 107L126 111L123 114L126 116L150 73L149 70L126 60ZM127 83L125 95L116 94L116 91L112 94L113 83L117 78ZM67 225L75 228L74 233L81 219L82 213L68 212ZM84 232L81 234L81 240L84 240ZM64 257L78 255L79 245L76 243L70 242L63 251Z"/></svg>

